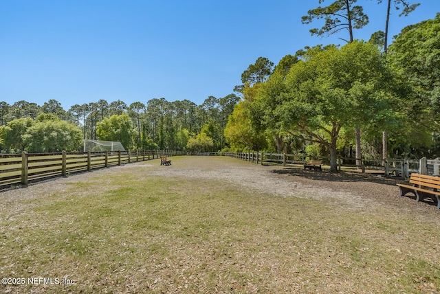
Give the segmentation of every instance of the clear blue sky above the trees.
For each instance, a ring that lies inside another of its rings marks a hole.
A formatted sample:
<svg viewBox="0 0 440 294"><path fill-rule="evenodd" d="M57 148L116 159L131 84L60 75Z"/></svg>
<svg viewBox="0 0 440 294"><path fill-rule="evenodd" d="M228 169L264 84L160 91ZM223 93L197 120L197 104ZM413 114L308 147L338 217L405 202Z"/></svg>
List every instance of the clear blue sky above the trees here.
<svg viewBox="0 0 440 294"><path fill-rule="evenodd" d="M321 5L329 5L327 0ZM384 1L386 2L386 1ZM393 10L390 34L433 19L439 0L408 16ZM259 56L275 65L305 46L344 44L339 34L311 36L317 21L301 16L318 0L1 0L0 101L54 99L74 104L127 105L153 98L190 100L233 93ZM359 0L370 23L355 30L368 40L384 30L386 5ZM391 41L388 41L388 43Z"/></svg>

